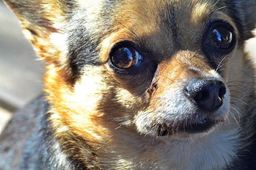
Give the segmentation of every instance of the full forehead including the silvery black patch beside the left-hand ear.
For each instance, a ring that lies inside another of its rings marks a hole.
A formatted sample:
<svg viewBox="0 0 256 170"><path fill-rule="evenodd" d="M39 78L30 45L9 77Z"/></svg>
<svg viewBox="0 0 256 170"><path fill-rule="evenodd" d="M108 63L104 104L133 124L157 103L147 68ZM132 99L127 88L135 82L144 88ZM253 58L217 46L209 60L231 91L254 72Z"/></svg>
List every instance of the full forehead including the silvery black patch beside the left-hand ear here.
<svg viewBox="0 0 256 170"><path fill-rule="evenodd" d="M79 0L70 12L69 51L74 64L84 63L77 56L95 56L94 51L100 61L91 57L88 63L105 63L113 45L125 40L154 56L196 51L211 20L225 20L235 28L235 13L228 0Z"/></svg>

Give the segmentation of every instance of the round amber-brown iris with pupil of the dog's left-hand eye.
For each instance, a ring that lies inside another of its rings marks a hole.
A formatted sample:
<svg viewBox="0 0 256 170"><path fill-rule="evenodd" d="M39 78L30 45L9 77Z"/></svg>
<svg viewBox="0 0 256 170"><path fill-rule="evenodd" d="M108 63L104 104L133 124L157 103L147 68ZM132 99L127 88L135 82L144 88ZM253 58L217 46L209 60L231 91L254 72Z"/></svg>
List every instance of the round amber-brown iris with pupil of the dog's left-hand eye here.
<svg viewBox="0 0 256 170"><path fill-rule="evenodd" d="M132 48L124 47L118 49L112 56L112 61L120 68L128 68L132 65L134 50Z"/></svg>

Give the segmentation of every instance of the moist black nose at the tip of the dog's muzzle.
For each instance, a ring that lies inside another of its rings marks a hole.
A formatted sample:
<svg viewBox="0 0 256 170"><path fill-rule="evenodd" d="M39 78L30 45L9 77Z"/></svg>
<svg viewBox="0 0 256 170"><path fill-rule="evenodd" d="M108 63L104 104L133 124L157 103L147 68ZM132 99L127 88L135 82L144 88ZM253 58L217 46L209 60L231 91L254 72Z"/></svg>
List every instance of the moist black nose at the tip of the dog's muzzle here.
<svg viewBox="0 0 256 170"><path fill-rule="evenodd" d="M202 109L212 111L223 104L226 87L220 80L194 80L187 86L189 97Z"/></svg>

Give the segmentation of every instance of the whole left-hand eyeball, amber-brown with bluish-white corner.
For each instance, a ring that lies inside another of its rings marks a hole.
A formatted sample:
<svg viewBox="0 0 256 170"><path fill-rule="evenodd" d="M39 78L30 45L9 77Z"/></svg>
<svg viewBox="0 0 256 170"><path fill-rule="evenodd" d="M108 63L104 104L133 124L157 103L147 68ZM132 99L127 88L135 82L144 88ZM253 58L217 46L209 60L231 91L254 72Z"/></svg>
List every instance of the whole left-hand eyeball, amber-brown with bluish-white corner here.
<svg viewBox="0 0 256 170"><path fill-rule="evenodd" d="M112 62L121 69L128 68L141 61L142 56L131 47L120 48L112 55Z"/></svg>

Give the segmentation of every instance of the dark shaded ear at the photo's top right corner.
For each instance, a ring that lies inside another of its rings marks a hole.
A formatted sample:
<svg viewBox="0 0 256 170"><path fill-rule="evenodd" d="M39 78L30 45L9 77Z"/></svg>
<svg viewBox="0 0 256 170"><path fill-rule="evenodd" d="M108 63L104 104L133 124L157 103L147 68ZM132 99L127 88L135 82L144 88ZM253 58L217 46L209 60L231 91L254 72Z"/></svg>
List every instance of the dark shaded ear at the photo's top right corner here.
<svg viewBox="0 0 256 170"><path fill-rule="evenodd" d="M232 2L232 0L230 0ZM252 29L256 26L256 0L236 0L237 17L243 22L244 40L253 37Z"/></svg>

